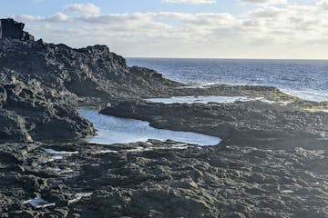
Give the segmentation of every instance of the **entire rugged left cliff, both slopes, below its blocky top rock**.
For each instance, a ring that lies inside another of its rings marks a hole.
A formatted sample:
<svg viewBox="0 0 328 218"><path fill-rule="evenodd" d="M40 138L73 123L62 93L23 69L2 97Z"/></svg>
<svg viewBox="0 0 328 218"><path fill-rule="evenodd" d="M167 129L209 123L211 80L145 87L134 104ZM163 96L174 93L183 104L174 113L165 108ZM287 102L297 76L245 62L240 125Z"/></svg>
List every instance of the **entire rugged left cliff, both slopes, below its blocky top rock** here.
<svg viewBox="0 0 328 218"><path fill-rule="evenodd" d="M179 85L153 70L128 67L106 45L74 49L15 38L0 39L0 76L2 142L94 134L72 105L158 96Z"/></svg>

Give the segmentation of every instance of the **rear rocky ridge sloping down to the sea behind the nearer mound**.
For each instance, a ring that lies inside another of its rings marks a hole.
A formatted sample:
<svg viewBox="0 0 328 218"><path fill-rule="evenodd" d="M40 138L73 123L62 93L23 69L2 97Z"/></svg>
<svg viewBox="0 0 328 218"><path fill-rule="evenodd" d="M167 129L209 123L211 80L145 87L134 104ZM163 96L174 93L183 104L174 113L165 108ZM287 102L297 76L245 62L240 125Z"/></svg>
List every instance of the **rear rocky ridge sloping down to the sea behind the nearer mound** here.
<svg viewBox="0 0 328 218"><path fill-rule="evenodd" d="M0 66L78 97L149 97L179 85L149 69L128 67L106 45L74 49L42 41L0 40Z"/></svg>

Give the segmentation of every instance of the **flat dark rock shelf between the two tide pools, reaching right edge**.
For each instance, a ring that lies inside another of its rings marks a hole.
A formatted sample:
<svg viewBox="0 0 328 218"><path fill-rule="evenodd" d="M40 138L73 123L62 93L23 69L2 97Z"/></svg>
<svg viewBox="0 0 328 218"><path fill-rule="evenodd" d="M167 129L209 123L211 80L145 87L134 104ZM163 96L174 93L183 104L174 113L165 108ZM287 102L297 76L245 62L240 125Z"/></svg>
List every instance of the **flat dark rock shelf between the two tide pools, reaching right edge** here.
<svg viewBox="0 0 328 218"><path fill-rule="evenodd" d="M101 113L148 121L152 126L220 137L222 144L261 148L323 148L328 114L302 110L296 103L261 101L234 104L155 104L121 102Z"/></svg>

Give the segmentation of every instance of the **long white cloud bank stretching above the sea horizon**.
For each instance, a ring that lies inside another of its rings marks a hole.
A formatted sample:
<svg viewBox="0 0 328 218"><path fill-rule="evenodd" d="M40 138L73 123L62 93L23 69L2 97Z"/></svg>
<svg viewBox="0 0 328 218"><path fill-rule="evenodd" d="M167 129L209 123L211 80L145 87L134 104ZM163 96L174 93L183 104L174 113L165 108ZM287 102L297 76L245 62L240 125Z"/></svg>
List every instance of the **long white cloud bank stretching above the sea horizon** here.
<svg viewBox="0 0 328 218"><path fill-rule="evenodd" d="M327 2L263 5L243 15L57 13L14 18L46 42L106 44L129 56L328 58Z"/></svg>

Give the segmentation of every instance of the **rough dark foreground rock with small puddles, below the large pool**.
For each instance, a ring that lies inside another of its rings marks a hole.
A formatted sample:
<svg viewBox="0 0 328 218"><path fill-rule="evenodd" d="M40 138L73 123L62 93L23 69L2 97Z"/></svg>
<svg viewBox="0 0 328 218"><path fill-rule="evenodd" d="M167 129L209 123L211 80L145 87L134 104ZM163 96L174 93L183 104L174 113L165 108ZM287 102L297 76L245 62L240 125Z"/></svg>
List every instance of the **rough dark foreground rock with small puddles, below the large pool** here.
<svg viewBox="0 0 328 218"><path fill-rule="evenodd" d="M0 211L3 217L323 218L327 154L159 141L8 144L0 147ZM35 198L46 203L26 202Z"/></svg>

